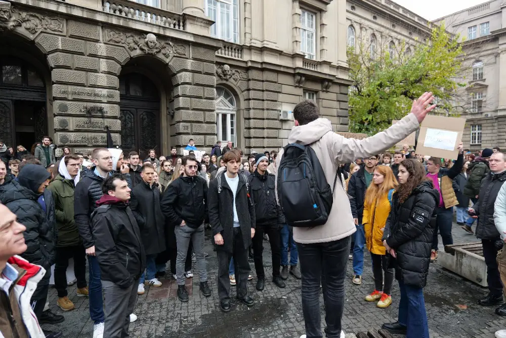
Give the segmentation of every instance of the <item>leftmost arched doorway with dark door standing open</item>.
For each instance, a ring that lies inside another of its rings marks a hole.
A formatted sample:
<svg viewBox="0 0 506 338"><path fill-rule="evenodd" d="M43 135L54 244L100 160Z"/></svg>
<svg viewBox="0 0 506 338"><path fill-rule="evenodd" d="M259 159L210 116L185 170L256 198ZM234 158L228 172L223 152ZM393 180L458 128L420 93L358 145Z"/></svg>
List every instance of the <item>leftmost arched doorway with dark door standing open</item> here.
<svg viewBox="0 0 506 338"><path fill-rule="evenodd" d="M30 63L0 56L0 139L27 149L48 134L46 88Z"/></svg>

